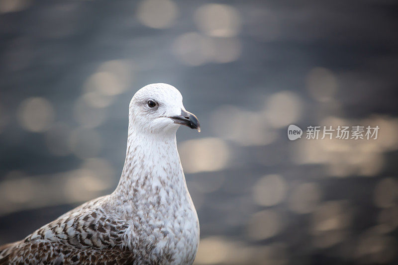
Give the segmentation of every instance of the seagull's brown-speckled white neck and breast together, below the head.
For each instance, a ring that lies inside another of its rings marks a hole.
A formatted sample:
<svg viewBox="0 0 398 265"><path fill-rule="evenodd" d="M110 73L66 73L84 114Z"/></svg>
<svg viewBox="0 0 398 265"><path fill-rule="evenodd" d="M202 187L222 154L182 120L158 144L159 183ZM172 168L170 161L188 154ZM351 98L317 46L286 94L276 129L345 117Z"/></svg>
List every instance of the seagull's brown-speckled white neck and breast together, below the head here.
<svg viewBox="0 0 398 265"><path fill-rule="evenodd" d="M145 132L130 119L122 176L111 194L110 209L135 229L125 234L133 248L137 238L150 242L151 259L162 253L170 264L192 264L199 244L199 222L177 151L177 128Z"/></svg>

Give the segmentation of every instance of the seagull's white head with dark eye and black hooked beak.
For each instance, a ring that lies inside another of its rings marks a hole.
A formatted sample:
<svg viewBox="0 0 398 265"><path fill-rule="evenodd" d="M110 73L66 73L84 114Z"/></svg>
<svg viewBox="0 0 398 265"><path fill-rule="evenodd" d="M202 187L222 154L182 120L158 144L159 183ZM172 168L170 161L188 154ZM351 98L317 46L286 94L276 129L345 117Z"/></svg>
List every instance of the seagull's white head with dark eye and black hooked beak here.
<svg viewBox="0 0 398 265"><path fill-rule="evenodd" d="M180 125L200 132L198 118L185 109L180 91L163 83L147 85L134 94L129 119L131 129L146 133L175 133Z"/></svg>

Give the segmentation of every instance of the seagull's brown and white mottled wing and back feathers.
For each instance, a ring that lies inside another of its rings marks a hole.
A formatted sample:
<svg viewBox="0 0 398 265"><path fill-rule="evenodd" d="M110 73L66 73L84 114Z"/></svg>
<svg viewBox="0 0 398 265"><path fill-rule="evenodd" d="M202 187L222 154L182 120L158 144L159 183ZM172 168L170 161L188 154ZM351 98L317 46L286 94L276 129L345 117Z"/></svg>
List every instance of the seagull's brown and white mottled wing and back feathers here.
<svg viewBox="0 0 398 265"><path fill-rule="evenodd" d="M122 246L128 224L95 207L106 198L85 203L24 240L2 246L0 264L133 264L134 253Z"/></svg>

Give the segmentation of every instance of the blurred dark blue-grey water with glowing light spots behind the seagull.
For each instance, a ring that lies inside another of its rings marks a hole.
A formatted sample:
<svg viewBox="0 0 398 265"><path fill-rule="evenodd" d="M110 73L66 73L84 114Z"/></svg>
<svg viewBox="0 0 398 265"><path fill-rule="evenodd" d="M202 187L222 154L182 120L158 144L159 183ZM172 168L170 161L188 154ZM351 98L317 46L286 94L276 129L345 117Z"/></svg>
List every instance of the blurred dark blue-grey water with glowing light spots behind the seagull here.
<svg viewBox="0 0 398 265"><path fill-rule="evenodd" d="M0 243L110 193L128 103L162 82L202 127L177 135L196 264L398 264L397 22L393 0L0 0Z"/></svg>

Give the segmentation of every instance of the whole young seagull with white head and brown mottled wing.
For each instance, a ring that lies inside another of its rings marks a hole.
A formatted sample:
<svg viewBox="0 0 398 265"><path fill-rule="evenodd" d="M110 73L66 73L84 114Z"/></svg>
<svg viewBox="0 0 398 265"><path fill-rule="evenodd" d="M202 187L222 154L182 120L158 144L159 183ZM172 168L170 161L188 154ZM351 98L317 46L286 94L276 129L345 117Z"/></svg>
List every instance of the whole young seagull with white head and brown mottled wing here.
<svg viewBox="0 0 398 265"><path fill-rule="evenodd" d="M193 264L199 220L177 151L180 125L200 132L177 88L139 89L116 189L1 246L0 264Z"/></svg>

